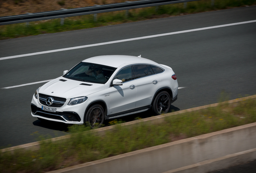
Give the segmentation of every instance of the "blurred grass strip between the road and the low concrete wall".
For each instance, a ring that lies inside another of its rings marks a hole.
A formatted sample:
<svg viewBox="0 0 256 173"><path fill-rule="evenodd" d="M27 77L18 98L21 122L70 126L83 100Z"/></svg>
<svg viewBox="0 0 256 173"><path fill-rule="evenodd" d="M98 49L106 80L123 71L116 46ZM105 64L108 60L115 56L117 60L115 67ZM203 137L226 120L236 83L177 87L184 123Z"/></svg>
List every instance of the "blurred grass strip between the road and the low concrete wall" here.
<svg viewBox="0 0 256 173"><path fill-rule="evenodd" d="M254 122L256 99L248 99L165 117L164 123L157 125L117 125L105 135L97 135L83 125L73 125L69 127L71 138L64 142L41 141L38 151L20 149L14 154L0 153L0 170L3 173L52 171Z"/></svg>

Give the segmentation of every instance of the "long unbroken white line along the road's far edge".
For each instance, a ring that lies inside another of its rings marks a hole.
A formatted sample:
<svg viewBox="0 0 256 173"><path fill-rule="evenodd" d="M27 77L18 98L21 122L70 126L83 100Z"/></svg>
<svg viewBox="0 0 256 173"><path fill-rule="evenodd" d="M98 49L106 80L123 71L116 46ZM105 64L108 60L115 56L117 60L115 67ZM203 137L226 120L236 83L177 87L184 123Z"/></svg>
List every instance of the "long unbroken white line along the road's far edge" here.
<svg viewBox="0 0 256 173"><path fill-rule="evenodd" d="M124 39L124 40L102 42L102 43L97 43L97 44L88 44L88 45L84 45L84 46L76 46L76 47L70 47L70 48L61 48L61 49L56 49L56 50L48 50L48 51L35 52L35 53L29 53L29 54L21 54L21 55L15 55L15 56L6 56L6 57L0 58L0 60L6 60L6 59L12 59L12 58L20 58L20 57L24 57L24 56L33 56L33 55L46 54L46 53L52 53L52 52L60 52L60 51L65 51L65 50L73 50L73 49L78 49L78 48L87 48L87 47L93 47L93 46L101 46L101 45L114 44L114 43L120 43L120 42L128 42L128 41L141 40L141 39L146 39L146 38L154 38L154 37L159 37L159 36L167 36L167 35L181 34L181 33L186 33L186 32L194 32L194 31L199 31L199 30L221 28L221 27L226 27L226 26L233 26L233 25L239 25L239 24L247 24L247 23L252 23L252 22L256 22L256 20L250 20L250 21L246 21L246 22L237 22L237 23L231 23L231 24L224 24L224 25L217 25L217 26L210 26L210 27L205 27L205 28L197 28L197 29L184 30L184 31L178 31L178 32L169 32L169 33L165 33L165 34L157 34L157 35L151 35L151 36L129 38L129 39Z"/></svg>

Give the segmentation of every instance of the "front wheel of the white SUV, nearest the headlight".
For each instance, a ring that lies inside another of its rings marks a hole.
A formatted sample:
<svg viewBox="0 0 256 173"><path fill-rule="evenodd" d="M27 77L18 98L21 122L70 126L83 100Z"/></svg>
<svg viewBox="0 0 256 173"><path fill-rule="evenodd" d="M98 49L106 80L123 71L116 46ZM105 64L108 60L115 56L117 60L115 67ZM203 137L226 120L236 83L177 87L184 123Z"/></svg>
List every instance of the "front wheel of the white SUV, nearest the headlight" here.
<svg viewBox="0 0 256 173"><path fill-rule="evenodd" d="M101 105L92 105L85 115L85 122L88 122L92 129L98 128L104 122L104 115L105 112Z"/></svg>

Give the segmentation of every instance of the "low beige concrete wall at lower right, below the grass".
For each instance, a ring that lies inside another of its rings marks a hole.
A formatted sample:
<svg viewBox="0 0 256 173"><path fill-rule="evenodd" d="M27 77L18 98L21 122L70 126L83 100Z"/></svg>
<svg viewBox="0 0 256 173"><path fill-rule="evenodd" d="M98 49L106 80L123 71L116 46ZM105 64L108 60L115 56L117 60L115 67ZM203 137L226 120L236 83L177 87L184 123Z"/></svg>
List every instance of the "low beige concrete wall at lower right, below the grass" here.
<svg viewBox="0 0 256 173"><path fill-rule="evenodd" d="M206 173L256 159L255 133L251 123L48 173Z"/></svg>

